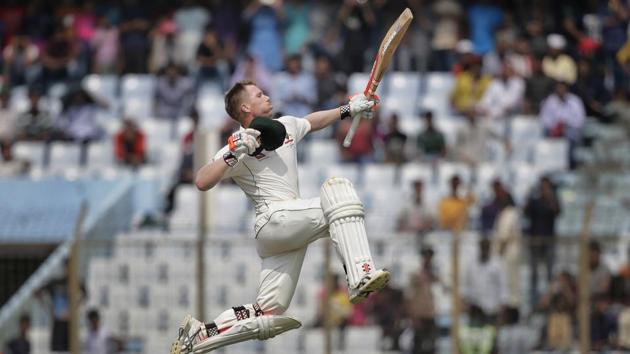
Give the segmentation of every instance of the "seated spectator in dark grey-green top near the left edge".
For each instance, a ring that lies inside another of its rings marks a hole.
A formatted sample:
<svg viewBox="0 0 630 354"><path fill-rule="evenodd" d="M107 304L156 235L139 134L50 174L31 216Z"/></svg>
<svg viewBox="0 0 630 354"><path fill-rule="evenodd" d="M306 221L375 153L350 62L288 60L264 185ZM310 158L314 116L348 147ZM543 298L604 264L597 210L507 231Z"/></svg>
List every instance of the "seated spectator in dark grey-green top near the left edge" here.
<svg viewBox="0 0 630 354"><path fill-rule="evenodd" d="M38 89L28 93L29 107L18 117L18 139L45 141L55 133L55 123Z"/></svg>

